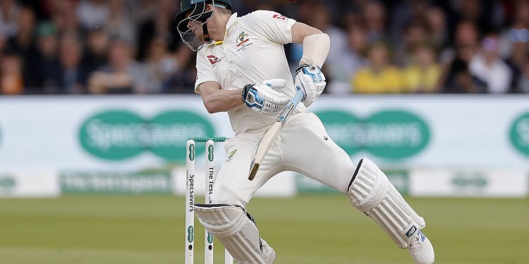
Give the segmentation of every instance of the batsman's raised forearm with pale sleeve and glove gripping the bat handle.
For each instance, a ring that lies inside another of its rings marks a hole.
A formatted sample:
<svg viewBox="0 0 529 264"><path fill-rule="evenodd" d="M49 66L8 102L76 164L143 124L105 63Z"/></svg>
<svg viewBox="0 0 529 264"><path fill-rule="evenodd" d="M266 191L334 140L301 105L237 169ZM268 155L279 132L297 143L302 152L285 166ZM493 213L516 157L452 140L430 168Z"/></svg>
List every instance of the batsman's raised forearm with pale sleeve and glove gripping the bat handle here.
<svg viewBox="0 0 529 264"><path fill-rule="evenodd" d="M303 104L310 106L320 94L327 82L321 67L329 54L329 35L315 27L296 22L291 28L292 42L303 45L303 56L296 69L296 89L305 93Z"/></svg>

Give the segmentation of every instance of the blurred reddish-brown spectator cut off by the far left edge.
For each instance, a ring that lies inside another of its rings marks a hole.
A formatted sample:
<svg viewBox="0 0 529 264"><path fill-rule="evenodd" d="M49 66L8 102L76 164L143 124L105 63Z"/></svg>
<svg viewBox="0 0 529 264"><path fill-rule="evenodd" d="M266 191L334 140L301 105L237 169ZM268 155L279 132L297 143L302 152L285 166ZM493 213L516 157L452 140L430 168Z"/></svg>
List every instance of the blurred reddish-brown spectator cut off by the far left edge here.
<svg viewBox="0 0 529 264"><path fill-rule="evenodd" d="M16 54L4 54L0 64L0 94L22 94L22 60Z"/></svg>

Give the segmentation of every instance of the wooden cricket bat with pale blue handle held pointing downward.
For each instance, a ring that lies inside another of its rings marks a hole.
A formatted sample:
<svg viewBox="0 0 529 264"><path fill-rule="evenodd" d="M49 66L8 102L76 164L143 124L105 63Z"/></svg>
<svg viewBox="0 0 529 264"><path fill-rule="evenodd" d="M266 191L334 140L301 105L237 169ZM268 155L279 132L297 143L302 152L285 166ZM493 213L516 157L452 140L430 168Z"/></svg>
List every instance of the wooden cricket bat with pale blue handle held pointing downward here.
<svg viewBox="0 0 529 264"><path fill-rule="evenodd" d="M285 125L285 121L292 111L298 106L298 103L303 99L303 91L298 90L296 95L286 104L285 108L281 112L281 115L276 119L276 121L270 126L265 132L265 134L259 139L255 146L255 152L253 154L252 163L250 163L250 174L248 175L248 180L253 180L259 170L259 165L262 163L262 160L265 159L270 146L274 143L279 132Z"/></svg>

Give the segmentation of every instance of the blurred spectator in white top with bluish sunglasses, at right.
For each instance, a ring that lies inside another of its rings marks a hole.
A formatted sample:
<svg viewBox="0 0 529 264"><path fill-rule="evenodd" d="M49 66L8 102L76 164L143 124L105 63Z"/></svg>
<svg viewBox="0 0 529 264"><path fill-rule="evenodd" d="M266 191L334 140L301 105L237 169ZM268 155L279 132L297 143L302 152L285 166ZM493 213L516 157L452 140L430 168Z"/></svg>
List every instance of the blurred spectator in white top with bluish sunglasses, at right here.
<svg viewBox="0 0 529 264"><path fill-rule="evenodd" d="M491 94L509 92L512 73L509 65L499 58L499 37L489 34L482 41L481 52L470 60L470 73L484 80Z"/></svg>

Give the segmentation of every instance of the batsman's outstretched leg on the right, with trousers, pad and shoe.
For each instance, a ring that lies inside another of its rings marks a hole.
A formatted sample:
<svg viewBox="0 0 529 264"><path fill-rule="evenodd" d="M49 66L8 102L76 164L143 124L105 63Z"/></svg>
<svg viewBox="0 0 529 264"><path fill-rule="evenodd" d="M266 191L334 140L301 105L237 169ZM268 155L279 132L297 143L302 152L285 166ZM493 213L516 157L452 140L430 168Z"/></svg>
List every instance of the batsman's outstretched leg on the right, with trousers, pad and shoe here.
<svg viewBox="0 0 529 264"><path fill-rule="evenodd" d="M433 263L430 241L418 231L424 220L404 201L375 163L364 159L353 165L348 154L329 138L319 118L300 115L285 125L279 144L288 169L334 187L351 199L395 241L408 249L417 263Z"/></svg>

